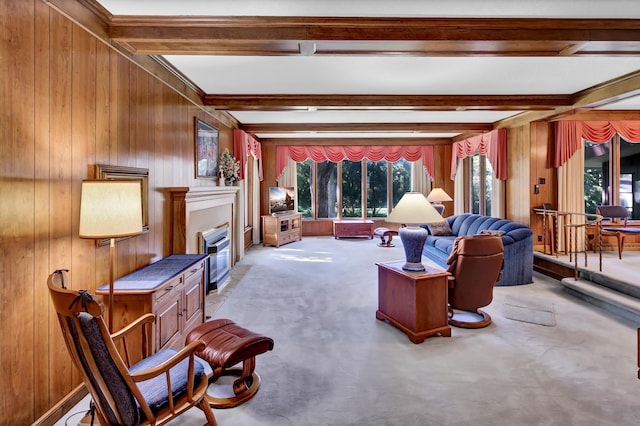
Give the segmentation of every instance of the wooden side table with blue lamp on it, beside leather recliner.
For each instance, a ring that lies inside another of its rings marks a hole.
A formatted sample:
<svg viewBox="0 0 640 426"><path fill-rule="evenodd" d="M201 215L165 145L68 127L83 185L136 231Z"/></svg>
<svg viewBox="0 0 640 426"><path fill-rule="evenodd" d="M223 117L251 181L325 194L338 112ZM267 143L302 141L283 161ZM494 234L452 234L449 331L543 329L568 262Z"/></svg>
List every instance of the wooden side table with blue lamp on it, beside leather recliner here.
<svg viewBox="0 0 640 426"><path fill-rule="evenodd" d="M442 269L423 272L402 269L404 260L378 265L376 318L402 330L413 343L433 335L451 337L448 318L448 282Z"/></svg>

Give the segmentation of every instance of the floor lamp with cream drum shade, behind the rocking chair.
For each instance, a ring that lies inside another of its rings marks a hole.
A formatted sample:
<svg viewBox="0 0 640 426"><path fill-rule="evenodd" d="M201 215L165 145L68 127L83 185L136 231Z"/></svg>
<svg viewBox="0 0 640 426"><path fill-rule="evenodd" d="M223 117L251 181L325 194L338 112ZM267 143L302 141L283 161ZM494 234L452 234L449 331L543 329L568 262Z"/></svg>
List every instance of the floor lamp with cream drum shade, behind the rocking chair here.
<svg viewBox="0 0 640 426"><path fill-rule="evenodd" d="M82 182L80 238L109 239L109 331L113 332L113 266L116 238L142 233L142 191L138 181Z"/></svg>

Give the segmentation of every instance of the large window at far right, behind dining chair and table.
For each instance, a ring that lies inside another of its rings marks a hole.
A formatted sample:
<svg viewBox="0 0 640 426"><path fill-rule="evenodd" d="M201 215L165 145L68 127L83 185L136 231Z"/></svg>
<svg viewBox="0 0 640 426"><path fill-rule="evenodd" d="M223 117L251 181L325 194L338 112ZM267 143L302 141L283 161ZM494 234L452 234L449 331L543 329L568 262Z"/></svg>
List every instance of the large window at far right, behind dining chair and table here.
<svg viewBox="0 0 640 426"><path fill-rule="evenodd" d="M600 204L622 205L640 219L640 144L619 136L584 143L584 203L586 213Z"/></svg>

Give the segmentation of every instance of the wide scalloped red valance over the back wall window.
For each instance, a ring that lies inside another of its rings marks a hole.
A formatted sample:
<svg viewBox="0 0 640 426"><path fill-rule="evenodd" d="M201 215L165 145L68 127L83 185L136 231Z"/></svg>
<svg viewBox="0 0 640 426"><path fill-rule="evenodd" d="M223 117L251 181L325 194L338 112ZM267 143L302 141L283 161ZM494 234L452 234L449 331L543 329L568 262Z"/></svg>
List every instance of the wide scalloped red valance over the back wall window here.
<svg viewBox="0 0 640 426"><path fill-rule="evenodd" d="M425 171L433 177L433 146L278 146L276 148L276 176L280 176L287 167L287 161L301 162L310 158L316 162L333 161L338 163L344 159L361 161L416 161L422 158Z"/></svg>

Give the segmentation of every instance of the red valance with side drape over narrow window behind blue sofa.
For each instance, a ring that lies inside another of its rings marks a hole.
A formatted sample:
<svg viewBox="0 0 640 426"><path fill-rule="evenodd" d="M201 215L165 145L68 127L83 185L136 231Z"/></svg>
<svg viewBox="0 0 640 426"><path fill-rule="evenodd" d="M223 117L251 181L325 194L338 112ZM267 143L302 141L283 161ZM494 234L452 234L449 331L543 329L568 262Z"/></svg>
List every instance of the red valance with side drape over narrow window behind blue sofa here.
<svg viewBox="0 0 640 426"><path fill-rule="evenodd" d="M455 142L451 153L451 180L456 177L458 159L467 158L475 154L484 155L489 159L496 178L507 180L506 129L492 130L489 133Z"/></svg>

